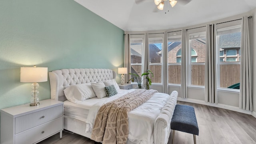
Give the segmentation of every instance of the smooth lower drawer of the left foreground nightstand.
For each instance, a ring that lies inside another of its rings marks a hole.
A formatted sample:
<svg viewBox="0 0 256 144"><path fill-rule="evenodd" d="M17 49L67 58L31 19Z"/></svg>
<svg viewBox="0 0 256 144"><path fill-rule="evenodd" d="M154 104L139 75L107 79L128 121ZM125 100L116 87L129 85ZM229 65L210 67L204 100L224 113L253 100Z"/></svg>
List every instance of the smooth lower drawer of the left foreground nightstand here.
<svg viewBox="0 0 256 144"><path fill-rule="evenodd" d="M33 144L63 129L63 118L58 118L52 122L48 122L32 128L26 132L22 132L15 136L15 144Z"/></svg>

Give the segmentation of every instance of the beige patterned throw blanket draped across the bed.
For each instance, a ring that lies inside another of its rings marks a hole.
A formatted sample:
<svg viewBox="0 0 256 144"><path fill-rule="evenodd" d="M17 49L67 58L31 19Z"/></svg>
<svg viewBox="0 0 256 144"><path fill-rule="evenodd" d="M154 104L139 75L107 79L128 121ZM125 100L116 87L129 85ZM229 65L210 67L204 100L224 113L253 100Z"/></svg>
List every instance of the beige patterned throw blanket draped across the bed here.
<svg viewBox="0 0 256 144"><path fill-rule="evenodd" d="M103 144L126 144L129 134L128 113L150 99L155 92L135 90L101 106L94 121L91 139L103 141Z"/></svg>

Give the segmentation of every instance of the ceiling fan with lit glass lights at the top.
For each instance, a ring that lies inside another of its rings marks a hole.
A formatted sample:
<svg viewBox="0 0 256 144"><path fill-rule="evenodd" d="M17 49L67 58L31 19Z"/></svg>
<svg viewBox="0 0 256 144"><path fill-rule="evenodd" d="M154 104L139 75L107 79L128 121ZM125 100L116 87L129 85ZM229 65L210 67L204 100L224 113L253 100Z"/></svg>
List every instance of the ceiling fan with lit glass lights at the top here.
<svg viewBox="0 0 256 144"><path fill-rule="evenodd" d="M136 3L136 4L140 4L140 3L144 2L144 1L148 1L148 0L135 0L135 3ZM157 5L157 8L158 8L159 10L163 10L163 9L164 9L164 4L165 4L165 2L167 2L167 1L170 3L170 5L171 5L172 7L174 7L177 2L178 2L179 4L186 5L186 4L188 4L191 0L154 0L154 3Z"/></svg>

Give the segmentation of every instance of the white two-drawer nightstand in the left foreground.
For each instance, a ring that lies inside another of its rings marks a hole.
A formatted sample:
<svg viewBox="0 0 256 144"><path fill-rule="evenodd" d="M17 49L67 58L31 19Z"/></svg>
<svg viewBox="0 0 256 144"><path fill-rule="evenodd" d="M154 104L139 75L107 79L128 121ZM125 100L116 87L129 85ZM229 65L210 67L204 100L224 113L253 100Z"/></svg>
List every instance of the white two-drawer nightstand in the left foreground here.
<svg viewBox="0 0 256 144"><path fill-rule="evenodd" d="M62 138L63 102L41 100L1 110L1 144L35 144L58 132Z"/></svg>

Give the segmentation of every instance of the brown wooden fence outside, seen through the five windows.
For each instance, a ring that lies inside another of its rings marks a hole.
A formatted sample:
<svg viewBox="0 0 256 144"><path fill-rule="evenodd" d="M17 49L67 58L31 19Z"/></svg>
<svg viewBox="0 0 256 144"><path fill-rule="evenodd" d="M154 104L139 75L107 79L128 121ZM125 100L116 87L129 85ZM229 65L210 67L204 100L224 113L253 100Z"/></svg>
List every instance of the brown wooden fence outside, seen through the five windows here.
<svg viewBox="0 0 256 144"><path fill-rule="evenodd" d="M141 66L132 66L134 72L141 75ZM191 66L191 84L204 86L204 65ZM162 66L150 66L150 70L154 73L154 78L150 77L152 83L161 83ZM170 84L180 84L181 82L181 66L169 65L168 75ZM233 84L240 82L240 64L223 64L220 65L220 87L227 88Z"/></svg>

